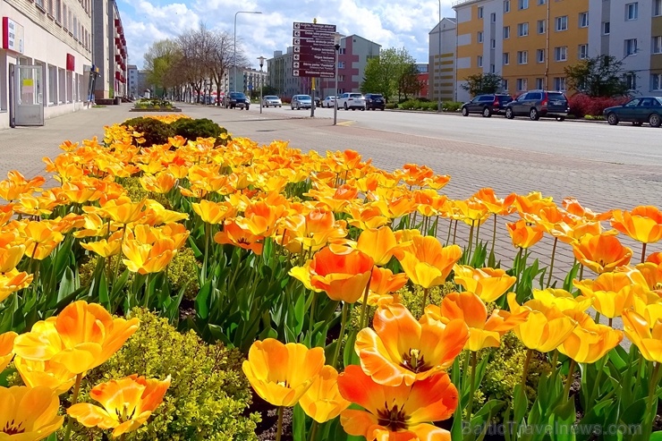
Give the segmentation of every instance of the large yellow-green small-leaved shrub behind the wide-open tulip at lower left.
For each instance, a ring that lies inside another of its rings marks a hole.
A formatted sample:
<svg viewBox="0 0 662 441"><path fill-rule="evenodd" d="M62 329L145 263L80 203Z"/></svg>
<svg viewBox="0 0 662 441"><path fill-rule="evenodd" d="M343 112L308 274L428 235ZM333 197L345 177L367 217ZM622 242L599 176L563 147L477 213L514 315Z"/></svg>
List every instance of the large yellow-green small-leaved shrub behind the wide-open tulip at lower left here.
<svg viewBox="0 0 662 441"><path fill-rule="evenodd" d="M232 441L257 440L257 414L245 416L250 386L242 374L242 355L220 343L203 343L193 331L180 334L165 318L146 310L133 310L140 328L110 360L89 372L81 383L81 401L92 403L92 386L134 373L172 384L164 403L148 424L129 440ZM71 396L64 395L64 401ZM98 428L73 425L73 440L109 439ZM64 429L61 430L64 432Z"/></svg>

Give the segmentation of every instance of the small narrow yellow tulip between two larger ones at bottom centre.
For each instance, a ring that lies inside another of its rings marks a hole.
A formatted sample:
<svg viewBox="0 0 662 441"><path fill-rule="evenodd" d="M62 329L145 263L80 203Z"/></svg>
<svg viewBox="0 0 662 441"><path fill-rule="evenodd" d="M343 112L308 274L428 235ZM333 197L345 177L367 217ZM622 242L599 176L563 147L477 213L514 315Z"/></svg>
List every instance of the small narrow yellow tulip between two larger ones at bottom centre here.
<svg viewBox="0 0 662 441"><path fill-rule="evenodd" d="M318 423L333 420L350 404L338 391L338 371L332 366L322 368L308 391L299 400L301 409Z"/></svg>

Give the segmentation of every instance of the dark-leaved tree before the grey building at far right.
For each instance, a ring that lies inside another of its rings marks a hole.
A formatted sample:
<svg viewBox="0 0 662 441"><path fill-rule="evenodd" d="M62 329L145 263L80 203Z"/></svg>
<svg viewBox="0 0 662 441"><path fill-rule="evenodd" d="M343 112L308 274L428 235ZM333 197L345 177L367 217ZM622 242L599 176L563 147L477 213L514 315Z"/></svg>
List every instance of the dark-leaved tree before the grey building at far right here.
<svg viewBox="0 0 662 441"><path fill-rule="evenodd" d="M628 94L623 60L612 55L598 55L565 67L568 88L589 97L621 97Z"/></svg>

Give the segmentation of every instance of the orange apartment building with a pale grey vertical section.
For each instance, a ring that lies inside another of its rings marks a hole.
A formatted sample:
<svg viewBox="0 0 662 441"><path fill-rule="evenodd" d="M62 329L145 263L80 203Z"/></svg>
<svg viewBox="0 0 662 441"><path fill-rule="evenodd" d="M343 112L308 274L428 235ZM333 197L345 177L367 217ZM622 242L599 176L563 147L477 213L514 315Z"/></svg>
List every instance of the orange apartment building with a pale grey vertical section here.
<svg viewBox="0 0 662 441"><path fill-rule="evenodd" d="M590 56L589 0L463 0L457 14L456 88L492 72L504 91L567 88L564 68Z"/></svg>

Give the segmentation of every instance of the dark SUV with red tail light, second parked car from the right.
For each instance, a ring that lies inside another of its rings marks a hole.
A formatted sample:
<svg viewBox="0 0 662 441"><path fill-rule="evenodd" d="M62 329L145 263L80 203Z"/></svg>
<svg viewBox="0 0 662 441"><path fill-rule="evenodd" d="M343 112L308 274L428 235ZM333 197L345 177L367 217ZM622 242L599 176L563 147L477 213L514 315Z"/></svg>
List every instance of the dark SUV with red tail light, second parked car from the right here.
<svg viewBox="0 0 662 441"><path fill-rule="evenodd" d="M511 120L515 116L529 116L531 121L541 117L564 121L569 111L568 98L557 90L530 90L505 105L505 117Z"/></svg>

